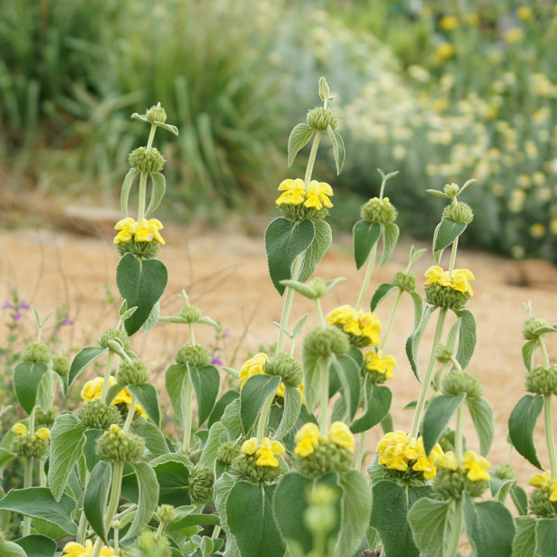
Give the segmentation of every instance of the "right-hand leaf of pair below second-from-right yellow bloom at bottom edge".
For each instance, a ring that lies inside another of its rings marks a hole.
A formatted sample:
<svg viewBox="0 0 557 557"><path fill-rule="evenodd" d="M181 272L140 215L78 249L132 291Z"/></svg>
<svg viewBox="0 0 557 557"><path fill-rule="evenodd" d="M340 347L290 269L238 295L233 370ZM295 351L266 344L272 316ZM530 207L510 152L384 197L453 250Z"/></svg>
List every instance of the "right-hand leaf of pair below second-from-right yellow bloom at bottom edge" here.
<svg viewBox="0 0 557 557"><path fill-rule="evenodd" d="M515 525L510 512L498 501L474 503L468 492L464 499L464 528L477 557L509 557Z"/></svg>

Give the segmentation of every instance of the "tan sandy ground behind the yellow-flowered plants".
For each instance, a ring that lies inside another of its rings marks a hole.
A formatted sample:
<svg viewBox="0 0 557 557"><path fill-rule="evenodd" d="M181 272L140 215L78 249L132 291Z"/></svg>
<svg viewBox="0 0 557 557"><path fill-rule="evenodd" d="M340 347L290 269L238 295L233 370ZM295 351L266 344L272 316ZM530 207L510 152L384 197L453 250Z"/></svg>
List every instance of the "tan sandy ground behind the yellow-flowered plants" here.
<svg viewBox="0 0 557 557"><path fill-rule="evenodd" d="M211 347L224 365L236 368L240 368L248 354L271 345L278 336L278 329L272 322L280 320L283 299L274 290L267 273L262 242L264 226L265 223L256 226L261 229L261 234L253 237L238 232L245 229L239 223L230 223L221 230L165 228L167 244L159 253L159 258L168 266L170 277L162 297L162 315L173 315L179 310L182 302L178 294L185 288L191 302L199 306L204 315L220 322L226 331L224 338L216 338L214 329L198 326L198 340ZM9 299L10 292L17 289L19 296L32 302L41 316L67 304L68 315L74 324L64 325L58 333L66 349L78 350L84 345L94 345L100 331L114 326L117 321L119 297L114 271L118 253L111 245L110 228L104 230L106 235L97 233L96 236L33 229L0 233L0 298ZM356 302L363 269L357 272L354 267L350 242L350 237L335 237L334 246L318 269L317 274L325 279L347 278L324 298L326 312L340 304L353 305ZM389 281L395 271L406 266L410 245L410 240L399 242L391 260L374 274L368 300L379 283ZM416 246L430 247L423 242L417 242ZM429 252L416 262L413 270L422 276L430 265L432 256ZM469 369L479 375L485 386L485 396L494 405L496 434L489 461L496 464L507 459L508 416L526 392L520 352L524 342L520 331L526 312L521 302L531 300L538 315L549 322L556 321L557 290L554 288L557 281L554 283L547 274L547 269L549 272L554 269L541 265L529 271L530 276L538 276L538 282L534 281L538 288L509 285L510 280L521 281L522 272L517 270L515 262L473 251L461 251L457 267L472 269L477 279L473 285L475 295L468 307L478 322L478 345ZM111 295L116 298L112 303ZM384 302L377 311L384 324L393 299ZM311 313L306 324L308 331L308 327L317 324L313 305L297 296L290 324L306 312ZM4 310L3 317L7 319L7 310ZM24 331L31 335L33 318L30 311L25 313L21 322ZM412 418L412 412L403 408L417 398L420 387L404 350L412 324L413 306L410 297L405 296L386 347L386 352L393 354L398 361L395 377L389 386L394 393L391 411L395 427L402 430L409 430ZM430 324L420 351L422 368L427 365L430 354L432 329L434 325ZM49 332L52 333L52 329L47 328L47 338ZM0 343L5 333L6 329L1 331ZM187 327L160 323L148 335L142 331L136 334L133 350L152 367L155 383L162 386L164 370L173 360L175 350L188 340ZM556 361L557 335L549 335L547 345L552 361ZM557 416L557 407L554 416ZM372 452L381 435L376 430L368 434L366 441ZM469 447L477 450L478 441L471 421L466 423L466 431ZM537 439L542 463L549 466L542 420ZM512 454L510 462L515 466L521 484L526 487L526 480L535 469L517 453Z"/></svg>

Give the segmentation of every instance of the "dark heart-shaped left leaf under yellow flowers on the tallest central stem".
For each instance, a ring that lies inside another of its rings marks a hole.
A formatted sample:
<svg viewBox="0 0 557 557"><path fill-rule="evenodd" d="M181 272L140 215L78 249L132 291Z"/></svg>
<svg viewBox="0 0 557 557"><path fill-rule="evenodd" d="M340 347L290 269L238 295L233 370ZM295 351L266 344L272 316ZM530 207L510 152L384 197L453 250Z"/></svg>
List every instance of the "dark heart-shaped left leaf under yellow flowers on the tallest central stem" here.
<svg viewBox="0 0 557 557"><path fill-rule="evenodd" d="M278 217L267 226L265 252L269 275L281 296L285 290L281 281L292 278L292 264L300 253L308 249L314 237L315 227L310 220L295 223Z"/></svg>

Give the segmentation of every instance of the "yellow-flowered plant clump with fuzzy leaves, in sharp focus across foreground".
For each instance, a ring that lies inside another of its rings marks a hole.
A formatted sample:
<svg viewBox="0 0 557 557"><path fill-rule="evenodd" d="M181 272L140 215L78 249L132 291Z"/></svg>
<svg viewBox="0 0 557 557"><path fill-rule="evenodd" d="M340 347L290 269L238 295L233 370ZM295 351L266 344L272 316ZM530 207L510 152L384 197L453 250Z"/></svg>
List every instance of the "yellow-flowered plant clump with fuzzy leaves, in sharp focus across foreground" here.
<svg viewBox="0 0 557 557"><path fill-rule="evenodd" d="M454 22L443 25L452 29ZM508 557L533 538L536 555L549 555L557 531L551 414L557 388L544 336L557 325L527 306L522 359L528 393L512 411L509 437L544 470L532 476L528 497L508 462L492 469L486 458L494 412L470 369L476 320L464 305L475 277L455 265L460 235L473 222L471 208L458 197L473 180L430 191L449 201L433 232L435 265L426 272L424 304L411 266L425 249L414 246L407 266L368 297L374 270L391 258L399 237L398 212L384 195L397 172L379 170L379 195L354 215L361 217L352 229L361 288L351 304L330 304L329 292L345 279L311 278L332 240L327 216L333 206L329 185L312 175L323 136L338 173L345 148L324 78L319 95L323 106L310 111L288 141L292 164L312 140L304 179L281 182L279 216L265 232L269 276L283 297L278 338L269 339L272 348L251 356L240 370L220 370L214 350L198 342L198 327L220 326L190 304L185 290L178 315L161 315L168 272L157 256L165 242L162 224L148 217L162 201L166 182L164 158L152 143L159 127L178 130L166 123L159 105L133 115L150 126L150 134L146 147L129 157L132 168L120 196L123 219L114 243L123 301L114 326L71 363L42 340L47 320L35 311L36 342L23 350L13 376L26 417L6 434L1 453L2 463L17 458L24 466L22 489L0 499L0 510L22 515L22 538L0 540L0 554L24 557L24 548L34 547L39 535L45 556L65 543L63 555L72 557L345 557L377 551L388 557L457 557L465 533L474 556ZM131 217L136 178L139 201ZM303 338L309 314L290 326L296 295L313 304L317 321ZM414 322L405 330L394 321L402 296L410 296L414 306ZM382 325L376 311L389 299ZM421 369L430 322L433 342ZM133 347L134 335L153 327L180 327L187 336L164 372L164 393ZM405 338L408 366L388 355L387 344L396 338ZM84 379L93 363L104 373ZM418 380L408 431L393 423L393 393L386 386L387 379L400 381L405 367ZM55 401L70 390L81 392L83 404L72 410L64 402L58 409ZM547 470L533 444L542 409ZM466 411L472 435L464 428ZM366 452L366 434L374 427L384 433L375 457ZM487 487L492 501L478 500ZM508 496L519 512L516 519L505 506Z"/></svg>

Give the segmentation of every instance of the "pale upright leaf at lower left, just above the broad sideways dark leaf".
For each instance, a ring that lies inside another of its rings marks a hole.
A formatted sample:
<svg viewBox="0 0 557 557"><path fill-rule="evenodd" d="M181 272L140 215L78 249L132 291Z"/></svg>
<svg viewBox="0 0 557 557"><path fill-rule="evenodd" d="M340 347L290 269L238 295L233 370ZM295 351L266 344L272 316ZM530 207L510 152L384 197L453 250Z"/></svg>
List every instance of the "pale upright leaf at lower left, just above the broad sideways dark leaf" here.
<svg viewBox="0 0 557 557"><path fill-rule="evenodd" d="M61 414L50 432L48 485L60 501L74 464L81 455L86 427L73 414Z"/></svg>

